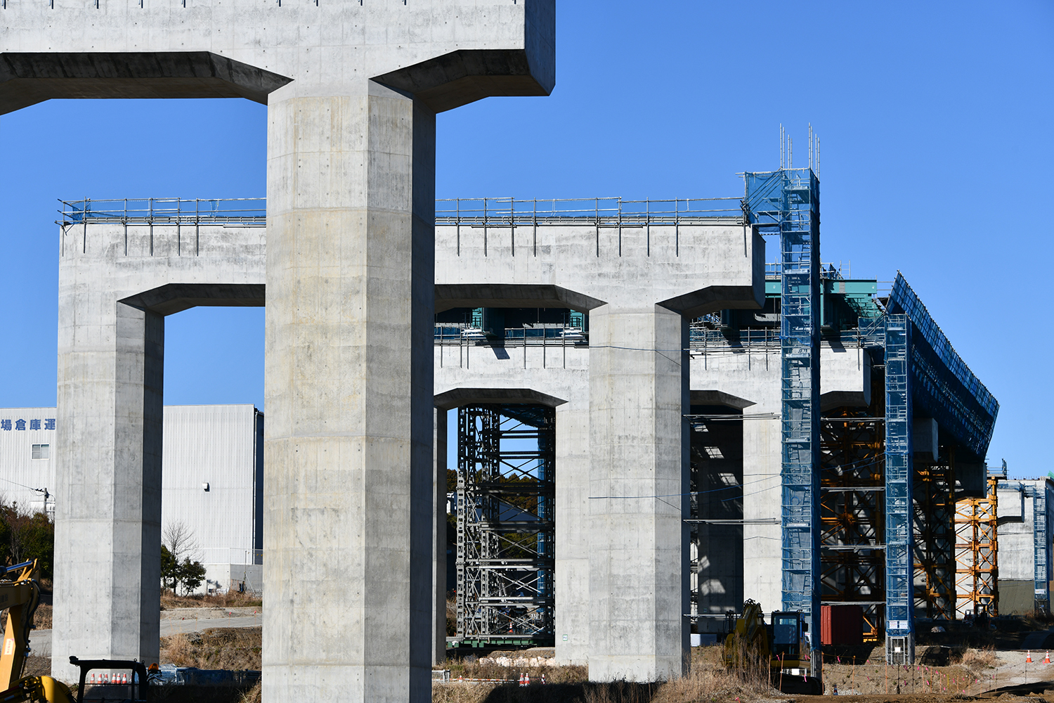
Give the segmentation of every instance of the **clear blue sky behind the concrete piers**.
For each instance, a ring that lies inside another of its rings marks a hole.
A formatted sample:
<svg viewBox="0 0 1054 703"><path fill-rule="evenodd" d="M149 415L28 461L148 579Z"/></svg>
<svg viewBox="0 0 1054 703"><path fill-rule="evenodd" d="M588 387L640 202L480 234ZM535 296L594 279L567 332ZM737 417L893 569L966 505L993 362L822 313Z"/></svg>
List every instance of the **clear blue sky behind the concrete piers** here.
<svg viewBox="0 0 1054 703"><path fill-rule="evenodd" d="M1046 0L558 0L553 95L441 115L436 195L739 195L737 172L778 167L781 122L804 165L812 122L822 258L903 271L999 399L990 460L1047 473L1052 72ZM51 101L0 118L0 407L55 404L56 199L262 196L266 112ZM262 406L262 310L182 312L165 336L165 403Z"/></svg>

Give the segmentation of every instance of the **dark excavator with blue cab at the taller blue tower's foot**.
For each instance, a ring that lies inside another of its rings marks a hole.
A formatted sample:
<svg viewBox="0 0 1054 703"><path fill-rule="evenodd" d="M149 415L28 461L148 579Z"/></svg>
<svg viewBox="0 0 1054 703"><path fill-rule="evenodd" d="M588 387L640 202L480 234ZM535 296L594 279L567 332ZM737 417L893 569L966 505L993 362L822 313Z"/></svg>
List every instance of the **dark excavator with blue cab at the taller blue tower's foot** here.
<svg viewBox="0 0 1054 703"><path fill-rule="evenodd" d="M783 692L823 694L823 684L812 675L808 626L801 610L776 610L765 622L761 604L743 603L743 611L726 617L723 660L743 673L767 672L773 686Z"/></svg>

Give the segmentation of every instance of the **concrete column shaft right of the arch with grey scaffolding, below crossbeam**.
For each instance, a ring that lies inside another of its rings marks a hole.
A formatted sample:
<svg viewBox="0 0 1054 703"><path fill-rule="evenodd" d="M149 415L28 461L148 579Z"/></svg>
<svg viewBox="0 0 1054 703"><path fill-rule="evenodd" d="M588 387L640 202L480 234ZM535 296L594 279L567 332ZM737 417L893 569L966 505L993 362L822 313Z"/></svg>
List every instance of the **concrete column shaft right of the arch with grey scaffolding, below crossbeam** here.
<svg viewBox="0 0 1054 703"><path fill-rule="evenodd" d="M590 311L589 678L676 679L688 651L687 325Z"/></svg>

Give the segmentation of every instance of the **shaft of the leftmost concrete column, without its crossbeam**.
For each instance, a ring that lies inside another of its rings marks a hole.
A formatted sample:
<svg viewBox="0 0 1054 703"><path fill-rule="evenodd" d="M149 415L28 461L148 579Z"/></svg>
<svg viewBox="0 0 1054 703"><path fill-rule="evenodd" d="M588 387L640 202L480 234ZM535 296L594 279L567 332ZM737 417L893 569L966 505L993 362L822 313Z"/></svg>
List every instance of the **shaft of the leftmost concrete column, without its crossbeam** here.
<svg viewBox="0 0 1054 703"><path fill-rule="evenodd" d="M69 282L69 281L66 281ZM164 318L105 290L59 307L54 658L157 661ZM100 621L100 614L103 619Z"/></svg>

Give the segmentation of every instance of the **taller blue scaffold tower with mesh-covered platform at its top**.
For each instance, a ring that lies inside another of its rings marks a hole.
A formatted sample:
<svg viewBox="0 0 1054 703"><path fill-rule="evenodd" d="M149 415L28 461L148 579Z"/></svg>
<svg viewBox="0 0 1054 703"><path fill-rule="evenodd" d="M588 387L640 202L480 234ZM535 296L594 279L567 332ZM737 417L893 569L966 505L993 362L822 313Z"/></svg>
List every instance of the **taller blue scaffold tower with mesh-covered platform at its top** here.
<svg viewBox="0 0 1054 703"><path fill-rule="evenodd" d="M812 169L744 178L747 220L780 236L782 605L803 612L820 677L820 182Z"/></svg>

